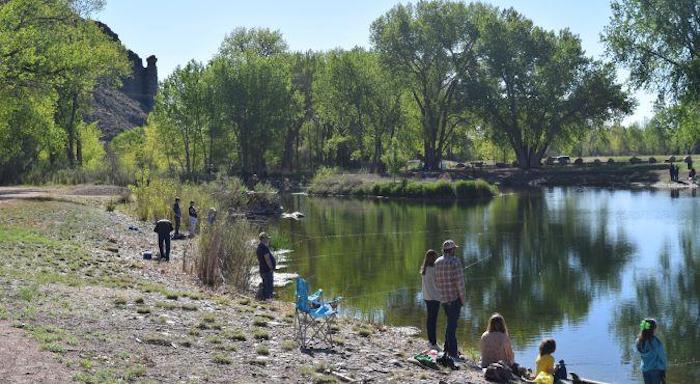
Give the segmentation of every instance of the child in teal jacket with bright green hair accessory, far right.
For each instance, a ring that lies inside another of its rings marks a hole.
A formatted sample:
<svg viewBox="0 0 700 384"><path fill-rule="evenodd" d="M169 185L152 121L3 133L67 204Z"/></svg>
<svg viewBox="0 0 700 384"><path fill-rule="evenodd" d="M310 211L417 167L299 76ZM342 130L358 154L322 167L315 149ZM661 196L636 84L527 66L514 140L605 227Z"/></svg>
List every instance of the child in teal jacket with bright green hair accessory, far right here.
<svg viewBox="0 0 700 384"><path fill-rule="evenodd" d="M644 384L662 384L666 382L666 351L654 333L656 320L644 319L639 325L640 332L635 345L642 356L642 375Z"/></svg>

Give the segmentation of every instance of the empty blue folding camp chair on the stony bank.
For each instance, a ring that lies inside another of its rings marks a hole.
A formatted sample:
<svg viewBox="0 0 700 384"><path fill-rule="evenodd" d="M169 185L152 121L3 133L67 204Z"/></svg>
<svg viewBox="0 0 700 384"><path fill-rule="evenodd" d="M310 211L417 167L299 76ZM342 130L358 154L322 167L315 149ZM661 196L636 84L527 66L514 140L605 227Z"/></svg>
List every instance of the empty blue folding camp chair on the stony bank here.
<svg viewBox="0 0 700 384"><path fill-rule="evenodd" d="M299 345L304 349L310 346L333 348L333 325L342 297L325 302L321 300L322 289L309 295L309 285L301 277L296 278L296 286L295 326Z"/></svg>

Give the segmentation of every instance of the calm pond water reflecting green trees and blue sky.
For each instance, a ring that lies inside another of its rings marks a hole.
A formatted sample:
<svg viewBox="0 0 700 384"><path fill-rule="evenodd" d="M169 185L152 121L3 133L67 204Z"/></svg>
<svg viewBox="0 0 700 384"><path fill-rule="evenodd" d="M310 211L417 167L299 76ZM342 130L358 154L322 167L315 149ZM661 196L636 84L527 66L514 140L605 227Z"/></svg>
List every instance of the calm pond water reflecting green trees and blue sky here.
<svg viewBox="0 0 700 384"><path fill-rule="evenodd" d="M452 238L464 265L476 263L460 343L478 346L498 311L520 363L533 366L553 337L569 371L640 383L634 338L654 316L669 382L700 383L700 197L690 192L555 188L471 205L290 196L285 206L306 214L279 224L295 248L289 270L348 297L348 315L424 329L418 269Z"/></svg>

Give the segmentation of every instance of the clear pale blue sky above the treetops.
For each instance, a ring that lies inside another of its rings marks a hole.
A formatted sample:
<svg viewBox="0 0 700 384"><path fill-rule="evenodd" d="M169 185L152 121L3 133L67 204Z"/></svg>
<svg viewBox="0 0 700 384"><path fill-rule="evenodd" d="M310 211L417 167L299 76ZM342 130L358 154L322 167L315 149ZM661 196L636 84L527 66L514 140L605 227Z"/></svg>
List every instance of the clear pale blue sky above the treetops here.
<svg viewBox="0 0 700 384"><path fill-rule="evenodd" d="M398 0L108 0L96 18L145 58L158 57L163 79L191 59L206 62L235 27L279 29L292 50L369 47L369 26ZM546 29L569 28L589 55L605 47L608 0L488 0L514 7ZM626 121L652 115L653 96L637 92L638 107Z"/></svg>

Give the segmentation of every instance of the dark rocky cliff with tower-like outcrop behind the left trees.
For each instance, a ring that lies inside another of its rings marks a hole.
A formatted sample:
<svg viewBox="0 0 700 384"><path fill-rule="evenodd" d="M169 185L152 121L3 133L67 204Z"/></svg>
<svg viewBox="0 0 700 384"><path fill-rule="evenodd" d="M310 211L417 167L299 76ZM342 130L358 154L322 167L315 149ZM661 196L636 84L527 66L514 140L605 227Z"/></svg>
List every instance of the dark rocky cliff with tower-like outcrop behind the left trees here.
<svg viewBox="0 0 700 384"><path fill-rule="evenodd" d="M108 36L121 43L119 36L106 24L96 23ZM146 124L158 90L156 57L146 58L144 67L139 55L131 50L127 53L132 66L131 76L121 79L119 89L107 84L98 86L93 93L93 110L86 116L88 122L97 122L103 138L108 141L129 128Z"/></svg>

